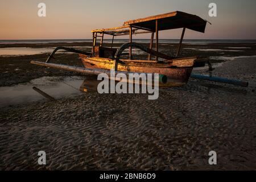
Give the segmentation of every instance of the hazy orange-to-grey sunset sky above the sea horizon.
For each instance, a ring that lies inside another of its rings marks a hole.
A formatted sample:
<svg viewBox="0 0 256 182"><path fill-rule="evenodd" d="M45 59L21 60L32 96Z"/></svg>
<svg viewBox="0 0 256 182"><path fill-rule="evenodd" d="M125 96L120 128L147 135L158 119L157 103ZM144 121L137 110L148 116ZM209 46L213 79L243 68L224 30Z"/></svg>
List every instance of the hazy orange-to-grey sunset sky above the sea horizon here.
<svg viewBox="0 0 256 182"><path fill-rule="evenodd" d="M45 18L38 16L40 2L46 3ZM208 15L210 2L217 4L217 17ZM90 39L95 28L176 10L212 23L205 34L188 30L185 39L256 39L255 0L1 0L0 39ZM180 34L181 30L161 31L159 38L177 39Z"/></svg>

